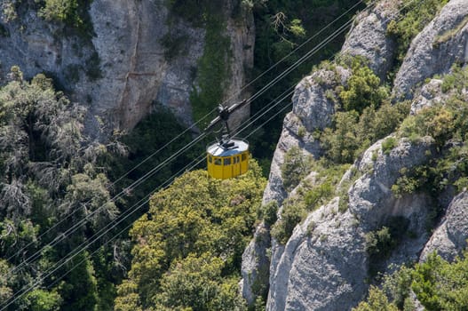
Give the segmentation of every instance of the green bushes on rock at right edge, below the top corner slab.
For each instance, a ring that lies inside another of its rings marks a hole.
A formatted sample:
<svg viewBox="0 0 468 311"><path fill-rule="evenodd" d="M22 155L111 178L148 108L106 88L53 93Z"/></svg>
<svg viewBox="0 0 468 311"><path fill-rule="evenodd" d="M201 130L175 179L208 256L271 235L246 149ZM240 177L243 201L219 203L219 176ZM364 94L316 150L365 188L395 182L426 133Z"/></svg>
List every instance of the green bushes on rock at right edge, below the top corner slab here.
<svg viewBox="0 0 468 311"><path fill-rule="evenodd" d="M464 160L468 105L463 95L464 80L452 80L453 76L464 75L466 70L454 68L453 74L444 77L445 81L452 82L446 83L446 92L450 92L450 96L443 105L424 108L415 116L408 116L401 124L400 137L416 143L430 136L435 150L429 163L401 171L401 177L392 187L395 195L426 191L437 197L447 187L456 186L459 192L466 186L468 170Z"/></svg>

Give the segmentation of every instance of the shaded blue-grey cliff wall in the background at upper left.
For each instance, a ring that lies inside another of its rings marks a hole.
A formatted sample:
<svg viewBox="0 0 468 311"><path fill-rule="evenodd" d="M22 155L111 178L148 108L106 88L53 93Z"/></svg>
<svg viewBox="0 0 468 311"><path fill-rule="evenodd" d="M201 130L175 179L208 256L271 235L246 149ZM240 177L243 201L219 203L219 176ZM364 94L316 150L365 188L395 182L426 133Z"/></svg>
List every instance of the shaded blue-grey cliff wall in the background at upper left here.
<svg viewBox="0 0 468 311"><path fill-rule="evenodd" d="M89 3L83 30L45 19L37 1L4 1L1 81L12 65L27 77L39 72L54 77L88 107L89 132L99 131L99 119L106 121L107 130L131 129L155 102L171 108L182 123L192 124L189 97L194 90L200 92L201 79L210 80L199 70L200 62L209 57L209 45L217 44L216 38L207 40L202 12L186 19L163 0ZM226 67L226 90L219 100L239 100L245 70L253 65L253 17L237 0L223 2L218 10L225 21L219 36L227 42L224 50L219 48L225 60L221 66Z"/></svg>

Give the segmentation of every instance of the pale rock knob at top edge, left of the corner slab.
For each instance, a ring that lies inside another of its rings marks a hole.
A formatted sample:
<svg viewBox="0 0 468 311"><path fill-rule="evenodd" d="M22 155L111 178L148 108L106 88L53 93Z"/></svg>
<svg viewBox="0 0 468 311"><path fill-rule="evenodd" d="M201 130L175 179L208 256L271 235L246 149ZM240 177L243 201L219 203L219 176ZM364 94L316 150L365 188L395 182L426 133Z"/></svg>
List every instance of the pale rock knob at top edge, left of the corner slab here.
<svg viewBox="0 0 468 311"><path fill-rule="evenodd" d="M386 28L398 16L400 1L379 2L371 12L362 12L349 32L342 53L360 55L369 60L369 67L384 80L393 65L396 44L386 36Z"/></svg>

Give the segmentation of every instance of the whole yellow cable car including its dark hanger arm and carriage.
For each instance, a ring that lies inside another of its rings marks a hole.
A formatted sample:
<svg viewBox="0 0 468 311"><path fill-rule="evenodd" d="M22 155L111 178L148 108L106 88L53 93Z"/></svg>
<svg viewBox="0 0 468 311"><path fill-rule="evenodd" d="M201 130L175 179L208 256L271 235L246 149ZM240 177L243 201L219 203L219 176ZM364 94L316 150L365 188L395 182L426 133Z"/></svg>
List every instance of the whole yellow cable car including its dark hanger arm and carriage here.
<svg viewBox="0 0 468 311"><path fill-rule="evenodd" d="M206 161L208 174L215 179L229 179L249 171L249 143L246 140L231 138L227 120L235 109L241 108L246 100L234 104L229 108L218 107L219 116L216 117L205 132L210 131L216 124L224 121L225 134L218 142L206 148Z"/></svg>

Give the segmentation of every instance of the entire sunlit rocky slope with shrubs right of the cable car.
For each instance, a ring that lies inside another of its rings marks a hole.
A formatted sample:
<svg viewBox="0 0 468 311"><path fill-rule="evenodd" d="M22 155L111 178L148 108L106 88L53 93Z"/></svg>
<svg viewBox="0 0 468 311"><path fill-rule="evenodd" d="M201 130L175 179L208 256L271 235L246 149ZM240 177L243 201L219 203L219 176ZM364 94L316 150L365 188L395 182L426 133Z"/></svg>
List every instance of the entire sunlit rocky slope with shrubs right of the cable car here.
<svg viewBox="0 0 468 311"><path fill-rule="evenodd" d="M464 194L454 195L463 190L466 174L456 164L464 161L459 150L465 146L464 125L456 120L467 100L466 85L458 79L464 79L468 56L468 5L443 4L381 1L358 17L336 64L321 66L297 85L263 198L265 206L278 204L278 220L264 220L256 233L273 235L271 243L254 239L243 254L242 292L250 303L265 295L258 291L261 283L269 287L267 310L350 309L366 296L377 272L390 271L391 264L398 267L439 250L453 259L464 249ZM395 67L405 46L389 28L413 27L415 15L423 20L418 27L427 25ZM363 57L380 81L397 70L393 98L372 100L370 94L380 89L370 82L379 80L361 76L362 66L346 66L349 54L354 60ZM434 75L443 79L431 80ZM374 89L364 92L367 87ZM385 128L398 105L408 107L397 104L401 97L415 99L412 115L405 110L402 124L399 119ZM293 163L302 158L313 165L288 170L294 148L299 153ZM350 165L339 181L323 177L340 163ZM297 179L292 185L291 176ZM292 232L278 230L285 226Z"/></svg>

